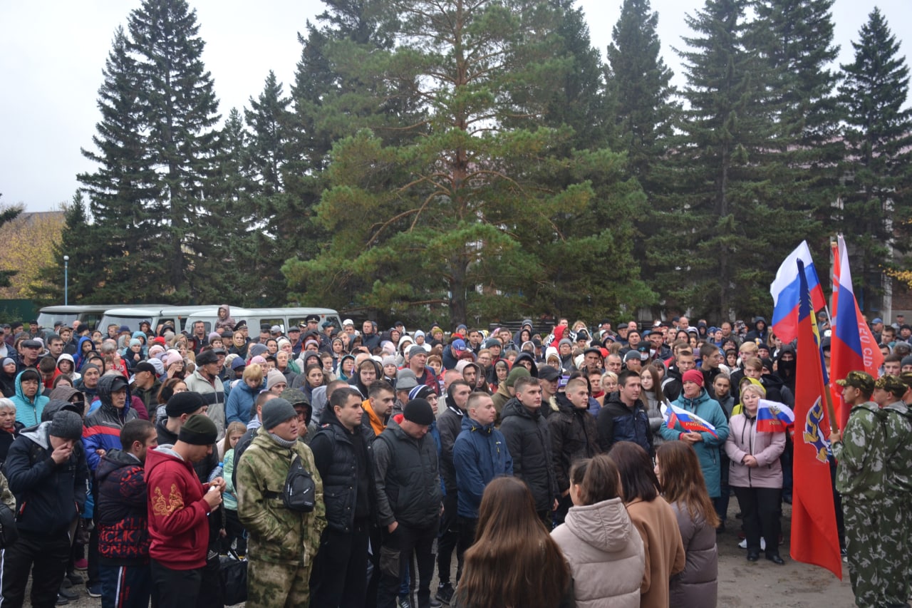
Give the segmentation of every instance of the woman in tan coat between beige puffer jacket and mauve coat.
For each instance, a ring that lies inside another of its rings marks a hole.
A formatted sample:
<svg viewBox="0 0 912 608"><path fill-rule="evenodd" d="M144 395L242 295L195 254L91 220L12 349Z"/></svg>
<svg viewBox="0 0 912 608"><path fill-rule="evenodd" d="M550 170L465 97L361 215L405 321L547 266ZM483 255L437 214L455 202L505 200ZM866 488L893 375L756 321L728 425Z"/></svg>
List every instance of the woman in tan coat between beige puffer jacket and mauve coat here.
<svg viewBox="0 0 912 608"><path fill-rule="evenodd" d="M652 459L642 447L619 441L608 456L621 475L627 513L646 546L649 589L640 595L641 608L668 608L671 577L684 570L686 556L678 519L665 498L658 495L658 477Z"/></svg>

